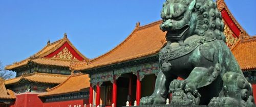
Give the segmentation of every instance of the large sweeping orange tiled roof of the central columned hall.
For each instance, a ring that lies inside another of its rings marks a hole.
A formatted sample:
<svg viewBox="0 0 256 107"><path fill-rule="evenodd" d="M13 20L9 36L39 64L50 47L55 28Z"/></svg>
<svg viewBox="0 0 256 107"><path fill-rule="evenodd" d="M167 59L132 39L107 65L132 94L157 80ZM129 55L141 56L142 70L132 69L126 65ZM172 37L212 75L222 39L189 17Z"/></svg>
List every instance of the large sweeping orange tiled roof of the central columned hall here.
<svg viewBox="0 0 256 107"><path fill-rule="evenodd" d="M162 21L156 21L144 26L137 23L135 30L114 49L87 63L73 64L74 70L86 70L95 67L121 63L124 61L154 55L165 45L165 34L159 29Z"/></svg>

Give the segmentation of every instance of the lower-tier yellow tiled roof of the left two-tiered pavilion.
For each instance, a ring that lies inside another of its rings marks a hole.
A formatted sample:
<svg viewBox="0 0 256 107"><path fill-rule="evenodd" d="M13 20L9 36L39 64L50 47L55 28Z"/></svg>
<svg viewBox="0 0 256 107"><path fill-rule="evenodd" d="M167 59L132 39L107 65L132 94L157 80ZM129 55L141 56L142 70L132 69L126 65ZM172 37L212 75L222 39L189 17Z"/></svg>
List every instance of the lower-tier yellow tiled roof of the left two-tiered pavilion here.
<svg viewBox="0 0 256 107"><path fill-rule="evenodd" d="M5 85L16 84L23 80L28 82L44 84L60 84L64 82L67 78L68 75L34 72L29 74L23 74L22 76L15 77L12 79L7 79L5 81Z"/></svg>

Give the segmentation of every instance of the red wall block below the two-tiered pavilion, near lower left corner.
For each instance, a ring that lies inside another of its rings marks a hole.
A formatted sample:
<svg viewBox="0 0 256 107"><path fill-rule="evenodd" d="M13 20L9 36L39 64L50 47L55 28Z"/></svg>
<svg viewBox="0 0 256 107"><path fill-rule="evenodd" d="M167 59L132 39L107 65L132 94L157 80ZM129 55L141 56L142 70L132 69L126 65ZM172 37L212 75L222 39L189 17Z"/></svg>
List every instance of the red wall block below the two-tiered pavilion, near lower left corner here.
<svg viewBox="0 0 256 107"><path fill-rule="evenodd" d="M37 97L38 94L24 93L16 95L16 100L11 107L43 107L42 101Z"/></svg>

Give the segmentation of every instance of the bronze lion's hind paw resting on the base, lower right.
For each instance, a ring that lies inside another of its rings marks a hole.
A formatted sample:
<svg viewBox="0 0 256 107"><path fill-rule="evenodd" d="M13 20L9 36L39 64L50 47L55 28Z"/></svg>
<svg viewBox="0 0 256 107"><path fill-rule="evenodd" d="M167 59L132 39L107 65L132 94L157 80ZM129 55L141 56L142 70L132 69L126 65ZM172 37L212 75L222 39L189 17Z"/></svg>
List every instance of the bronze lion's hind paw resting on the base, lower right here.
<svg viewBox="0 0 256 107"><path fill-rule="evenodd" d="M230 98L230 97L214 97L210 100L210 103L208 104L208 106L214 106L214 107L228 107L228 106L240 106L240 104L238 103L238 101L234 98Z"/></svg>

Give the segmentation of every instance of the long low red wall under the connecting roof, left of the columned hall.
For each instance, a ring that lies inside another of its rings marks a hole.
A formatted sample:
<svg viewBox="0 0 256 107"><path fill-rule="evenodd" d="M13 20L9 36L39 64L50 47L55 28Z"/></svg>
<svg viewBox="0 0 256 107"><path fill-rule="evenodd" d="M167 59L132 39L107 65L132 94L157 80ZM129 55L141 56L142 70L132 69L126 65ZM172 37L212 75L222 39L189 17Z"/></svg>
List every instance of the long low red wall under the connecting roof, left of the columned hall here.
<svg viewBox="0 0 256 107"><path fill-rule="evenodd" d="M68 101L57 101L57 102L45 102L44 107L68 107L69 105L81 105L83 106L84 103L89 106L89 99L77 99L77 100L68 100Z"/></svg>

